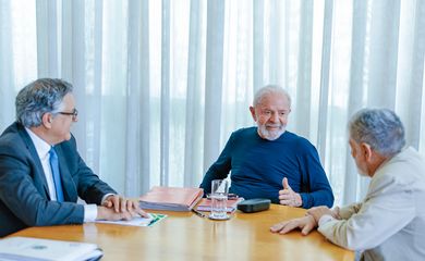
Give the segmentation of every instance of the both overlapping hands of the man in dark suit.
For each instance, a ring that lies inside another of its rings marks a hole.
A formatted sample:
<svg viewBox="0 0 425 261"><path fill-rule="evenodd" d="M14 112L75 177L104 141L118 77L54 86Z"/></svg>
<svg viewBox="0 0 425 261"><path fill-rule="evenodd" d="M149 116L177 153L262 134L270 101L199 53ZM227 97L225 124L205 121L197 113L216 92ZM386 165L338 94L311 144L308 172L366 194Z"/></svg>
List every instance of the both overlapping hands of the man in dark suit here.
<svg viewBox="0 0 425 261"><path fill-rule="evenodd" d="M148 214L138 207L136 201L119 195L108 196L102 204L97 207L97 220L131 220L137 215L148 217Z"/></svg>

